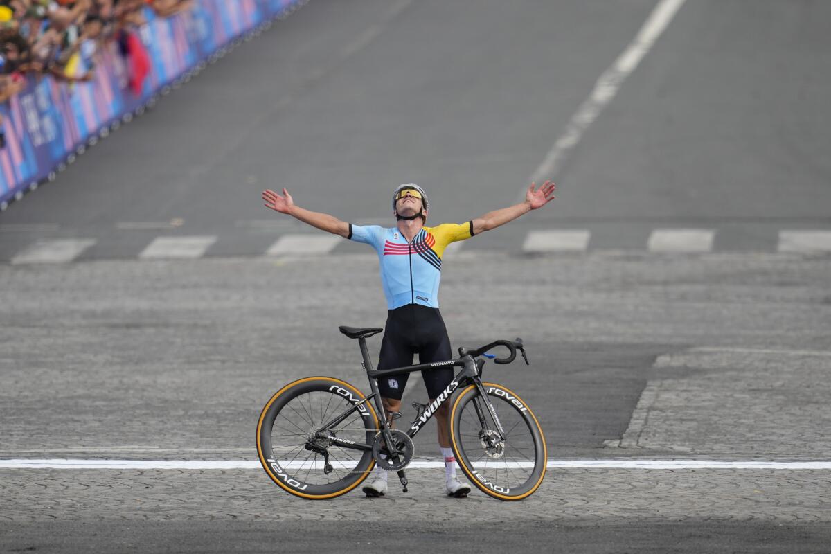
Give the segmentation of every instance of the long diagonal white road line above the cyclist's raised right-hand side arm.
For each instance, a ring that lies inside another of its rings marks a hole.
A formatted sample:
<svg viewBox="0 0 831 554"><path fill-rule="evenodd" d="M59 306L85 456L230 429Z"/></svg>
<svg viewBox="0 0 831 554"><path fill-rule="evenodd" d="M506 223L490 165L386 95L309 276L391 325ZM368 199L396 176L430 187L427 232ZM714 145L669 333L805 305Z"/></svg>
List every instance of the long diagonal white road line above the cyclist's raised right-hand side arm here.
<svg viewBox="0 0 831 554"><path fill-rule="evenodd" d="M558 170L568 154L583 139L583 134L612 101L623 81L626 81L629 74L635 70L643 56L647 55L647 52L661 36L661 33L664 32L664 29L675 17L676 12L684 2L685 0L661 0L661 2L658 2L658 5L649 14L647 21L643 23L641 30L627 49L597 79L592 93L574 112L563 135L560 135L552 149L548 151L543 163L531 175L531 181L541 184L546 179L556 178ZM521 198L525 198L525 190L522 191Z"/></svg>

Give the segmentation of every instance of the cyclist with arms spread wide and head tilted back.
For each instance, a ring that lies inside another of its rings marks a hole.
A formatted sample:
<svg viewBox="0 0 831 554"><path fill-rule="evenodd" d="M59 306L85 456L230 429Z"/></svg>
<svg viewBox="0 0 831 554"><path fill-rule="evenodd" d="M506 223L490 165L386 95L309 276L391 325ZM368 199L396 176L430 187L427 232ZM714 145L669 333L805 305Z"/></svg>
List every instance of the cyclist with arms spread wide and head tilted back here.
<svg viewBox="0 0 831 554"><path fill-rule="evenodd" d="M542 208L554 198L554 189L555 185L550 181L539 189L532 183L522 203L485 213L466 223L443 223L436 227L425 227L429 213L427 194L413 183L401 184L393 194L396 227L392 228L352 225L327 213L300 208L286 189L282 195L265 190L263 200L268 208L277 212L288 213L312 227L376 249L388 309L377 369L386 370L412 365L415 354L419 355L420 364L453 357L438 302L441 261L447 245L497 228L532 209ZM422 375L427 396L433 402L450 384L453 369L431 369ZM399 413L408 377L409 374L401 374L378 380L387 417ZM456 477L455 457L447 436L449 411L449 404L444 404L435 413L439 447L445 458L445 491L449 496L464 498L470 493L470 486L460 483ZM371 483L364 486L363 491L367 496L382 496L386 493L386 483L386 471L376 468Z"/></svg>

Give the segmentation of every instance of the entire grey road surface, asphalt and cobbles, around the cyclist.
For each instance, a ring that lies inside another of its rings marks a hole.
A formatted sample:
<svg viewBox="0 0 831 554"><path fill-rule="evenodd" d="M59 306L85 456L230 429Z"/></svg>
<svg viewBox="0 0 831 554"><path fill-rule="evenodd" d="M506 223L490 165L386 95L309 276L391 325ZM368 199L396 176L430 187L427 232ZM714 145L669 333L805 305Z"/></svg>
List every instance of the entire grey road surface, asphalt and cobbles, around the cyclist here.
<svg viewBox="0 0 831 554"><path fill-rule="evenodd" d="M364 388L336 326L383 323L375 257L347 241L263 257L304 229L260 191L356 223L391 223L408 181L431 223L513 203L654 5L312 0L166 96L0 214L2 262L94 241L71 263L0 265L0 458L253 459L279 385L325 373ZM831 258L775 252L782 229L831 229L829 12L686 2L553 176L558 199L447 256L454 346L523 336L534 365L488 371L534 407L553 458L831 459ZM588 252L522 255L546 228L589 229ZM713 228L714 252L647 252L655 228ZM191 235L216 242L136 259ZM406 406L423 400L411 382ZM0 549L831 542L828 469L558 468L507 506L450 503L436 477L413 471L411 493L382 502L307 503L257 469L0 468Z"/></svg>

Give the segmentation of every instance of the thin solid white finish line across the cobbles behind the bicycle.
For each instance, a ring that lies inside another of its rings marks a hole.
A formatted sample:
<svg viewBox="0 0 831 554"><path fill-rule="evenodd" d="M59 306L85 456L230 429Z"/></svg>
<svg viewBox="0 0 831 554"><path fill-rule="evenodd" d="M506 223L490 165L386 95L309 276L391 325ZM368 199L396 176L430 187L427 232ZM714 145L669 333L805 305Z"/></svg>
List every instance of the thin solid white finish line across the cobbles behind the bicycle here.
<svg viewBox="0 0 831 554"><path fill-rule="evenodd" d="M322 468L321 463L317 463ZM333 463L333 465L342 464ZM508 463L509 468L530 467L529 463ZM310 468L308 462L293 462L284 468ZM439 469L445 463L414 461L409 469ZM477 466L479 467L479 466ZM494 464L495 467L495 464ZM499 468L505 464L499 463ZM831 461L775 462L712 460L554 460L549 469L831 469ZM258 460L107 460L107 459L6 459L0 460L0 469L255 469L262 468Z"/></svg>

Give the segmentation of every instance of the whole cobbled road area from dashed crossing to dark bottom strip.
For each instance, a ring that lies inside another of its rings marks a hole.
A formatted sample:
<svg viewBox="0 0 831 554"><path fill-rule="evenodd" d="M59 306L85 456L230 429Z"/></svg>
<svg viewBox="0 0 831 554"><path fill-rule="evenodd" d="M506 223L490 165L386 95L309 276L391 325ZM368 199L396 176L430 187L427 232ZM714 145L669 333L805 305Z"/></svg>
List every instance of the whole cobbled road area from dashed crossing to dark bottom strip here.
<svg viewBox="0 0 831 554"><path fill-rule="evenodd" d="M9 339L0 355L0 458L253 458L258 410L274 386L322 373L359 382L356 347L334 326L380 322L380 293L353 290L337 276L376 282L373 262L0 267L7 286L0 328ZM831 458L824 435L829 257L597 253L495 261L461 252L454 263L443 275L450 334L462 344L525 336L532 365L489 366L489 375L527 392L550 455ZM484 263L488 272L472 285L470 269ZM470 308L483 298L484 316ZM579 348L568 357L563 344ZM426 458L435 449L431 435L418 437ZM478 492L455 501L440 491L440 470L408 476L410 493L309 502L261 470L3 469L0 534L37 537L57 522L101 522L101 532L125 522L170 523L158 529L165 536L179 532L175 522L207 529L284 521L292 530L360 526L392 512L422 530L446 529L454 518L470 526L514 522L520 531L609 522L734 522L745 530L730 537L753 534L746 531L753 525L822 530L831 521L831 472L821 470L558 468L522 503ZM671 536L685 531L678 533ZM77 541L84 552L87 542ZM821 542L810 544L822 552Z"/></svg>

